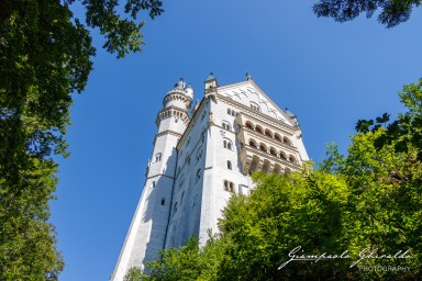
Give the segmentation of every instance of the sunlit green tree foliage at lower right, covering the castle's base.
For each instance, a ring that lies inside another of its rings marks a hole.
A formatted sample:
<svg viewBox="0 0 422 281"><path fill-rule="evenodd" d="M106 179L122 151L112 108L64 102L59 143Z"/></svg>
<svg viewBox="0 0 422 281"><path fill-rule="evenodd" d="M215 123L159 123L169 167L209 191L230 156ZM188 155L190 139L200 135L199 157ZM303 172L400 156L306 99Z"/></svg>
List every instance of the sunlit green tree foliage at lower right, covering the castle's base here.
<svg viewBox="0 0 422 281"><path fill-rule="evenodd" d="M404 87L400 98L408 111L390 125L388 114L358 122L347 155L331 145L315 169L255 173L257 188L231 198L216 239L203 250L190 241L164 251L148 265L147 280L419 280L421 85ZM293 249L337 257L290 260ZM219 255L210 260L203 252ZM201 274L206 263L212 265L208 279Z"/></svg>

